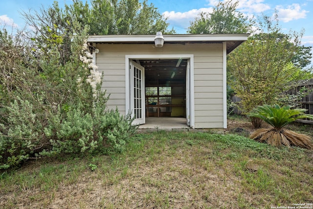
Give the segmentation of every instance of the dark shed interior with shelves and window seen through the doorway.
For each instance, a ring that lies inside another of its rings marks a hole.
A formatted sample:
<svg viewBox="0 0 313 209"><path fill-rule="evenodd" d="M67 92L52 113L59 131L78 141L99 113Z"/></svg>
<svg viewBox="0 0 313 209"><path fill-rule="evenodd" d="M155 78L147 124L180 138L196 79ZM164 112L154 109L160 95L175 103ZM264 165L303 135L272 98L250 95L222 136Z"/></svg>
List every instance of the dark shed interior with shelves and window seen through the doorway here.
<svg viewBox="0 0 313 209"><path fill-rule="evenodd" d="M145 69L146 117L186 118L187 59L135 60Z"/></svg>

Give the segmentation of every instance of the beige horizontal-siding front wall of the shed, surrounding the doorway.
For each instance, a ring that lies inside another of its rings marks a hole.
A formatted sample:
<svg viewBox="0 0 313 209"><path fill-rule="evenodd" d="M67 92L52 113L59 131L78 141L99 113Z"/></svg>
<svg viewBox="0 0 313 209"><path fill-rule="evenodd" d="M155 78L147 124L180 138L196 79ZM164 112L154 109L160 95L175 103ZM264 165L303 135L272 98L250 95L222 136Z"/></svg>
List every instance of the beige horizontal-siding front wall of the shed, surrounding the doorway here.
<svg viewBox="0 0 313 209"><path fill-rule="evenodd" d="M223 128L223 44L153 45L97 44L102 89L110 93L109 109L126 114L125 55L194 54L195 128Z"/></svg>

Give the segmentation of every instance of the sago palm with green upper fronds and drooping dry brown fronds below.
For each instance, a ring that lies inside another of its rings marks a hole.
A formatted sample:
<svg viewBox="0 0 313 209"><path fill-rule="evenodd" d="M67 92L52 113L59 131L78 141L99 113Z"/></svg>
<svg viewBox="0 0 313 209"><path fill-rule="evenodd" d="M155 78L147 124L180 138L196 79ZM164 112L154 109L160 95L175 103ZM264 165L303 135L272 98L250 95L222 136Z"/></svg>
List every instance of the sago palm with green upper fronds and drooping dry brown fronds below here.
<svg viewBox="0 0 313 209"><path fill-rule="evenodd" d="M258 117L270 124L273 128L261 128L251 134L250 138L260 142L267 142L274 146L299 146L312 149L312 138L304 134L298 134L290 130L283 129L287 124L301 118L311 118L307 115L306 109L291 109L291 106L263 105L254 108L249 114L250 117Z"/></svg>

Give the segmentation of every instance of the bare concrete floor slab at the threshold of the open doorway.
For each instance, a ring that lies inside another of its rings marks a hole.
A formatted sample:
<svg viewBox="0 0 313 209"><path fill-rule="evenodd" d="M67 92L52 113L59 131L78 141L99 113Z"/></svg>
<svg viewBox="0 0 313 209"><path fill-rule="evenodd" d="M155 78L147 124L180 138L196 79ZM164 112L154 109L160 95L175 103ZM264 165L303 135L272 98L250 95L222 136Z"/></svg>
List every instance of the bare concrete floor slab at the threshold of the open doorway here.
<svg viewBox="0 0 313 209"><path fill-rule="evenodd" d="M146 123L138 129L189 129L184 117L146 117Z"/></svg>

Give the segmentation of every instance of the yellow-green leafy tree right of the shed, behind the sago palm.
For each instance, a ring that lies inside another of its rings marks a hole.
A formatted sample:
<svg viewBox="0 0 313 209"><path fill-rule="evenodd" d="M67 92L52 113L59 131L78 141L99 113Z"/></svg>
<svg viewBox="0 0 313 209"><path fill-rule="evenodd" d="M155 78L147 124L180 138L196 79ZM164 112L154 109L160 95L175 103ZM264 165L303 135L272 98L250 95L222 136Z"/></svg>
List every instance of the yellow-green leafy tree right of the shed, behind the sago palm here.
<svg viewBox="0 0 313 209"><path fill-rule="evenodd" d="M228 56L230 86L242 98L244 113L263 104L274 104L277 96L290 87L291 81L302 78L292 61L299 51L302 32L283 34L274 20L263 16L254 34ZM260 120L252 120L259 127Z"/></svg>

